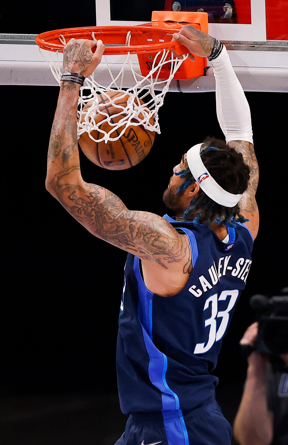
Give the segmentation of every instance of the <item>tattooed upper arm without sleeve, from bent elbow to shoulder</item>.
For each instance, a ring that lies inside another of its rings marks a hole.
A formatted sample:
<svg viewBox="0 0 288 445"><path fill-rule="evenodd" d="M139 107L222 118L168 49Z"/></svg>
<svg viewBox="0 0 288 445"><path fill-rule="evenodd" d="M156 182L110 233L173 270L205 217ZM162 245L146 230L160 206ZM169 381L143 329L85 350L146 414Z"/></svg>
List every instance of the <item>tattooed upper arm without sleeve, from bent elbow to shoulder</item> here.
<svg viewBox="0 0 288 445"><path fill-rule="evenodd" d="M93 235L168 269L189 255L189 242L159 215L128 210L114 193L60 171L47 190Z"/></svg>

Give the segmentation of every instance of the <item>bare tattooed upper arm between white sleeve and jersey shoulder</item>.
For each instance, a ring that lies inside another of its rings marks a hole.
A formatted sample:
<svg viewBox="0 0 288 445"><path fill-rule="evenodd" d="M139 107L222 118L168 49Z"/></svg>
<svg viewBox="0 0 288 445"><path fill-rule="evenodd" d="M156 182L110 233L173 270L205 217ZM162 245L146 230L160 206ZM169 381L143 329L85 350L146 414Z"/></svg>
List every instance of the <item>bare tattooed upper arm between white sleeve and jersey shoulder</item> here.
<svg viewBox="0 0 288 445"><path fill-rule="evenodd" d="M245 218L249 218L249 221L246 222L245 225L249 228L253 238L255 239L259 228L259 211L255 199L259 181L259 167L254 151L254 146L253 144L251 144L251 142L247 141L231 141L228 142L227 145L241 153L244 162L250 168L250 179L248 188L239 201L239 206L241 214Z"/></svg>

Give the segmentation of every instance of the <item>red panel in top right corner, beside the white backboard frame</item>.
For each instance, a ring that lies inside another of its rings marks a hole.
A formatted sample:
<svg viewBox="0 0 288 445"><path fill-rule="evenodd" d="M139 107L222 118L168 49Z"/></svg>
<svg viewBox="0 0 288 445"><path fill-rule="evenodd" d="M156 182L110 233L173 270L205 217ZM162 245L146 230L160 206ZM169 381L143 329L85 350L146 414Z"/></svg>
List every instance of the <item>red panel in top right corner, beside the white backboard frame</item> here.
<svg viewBox="0 0 288 445"><path fill-rule="evenodd" d="M288 40L288 2L266 0L267 40Z"/></svg>

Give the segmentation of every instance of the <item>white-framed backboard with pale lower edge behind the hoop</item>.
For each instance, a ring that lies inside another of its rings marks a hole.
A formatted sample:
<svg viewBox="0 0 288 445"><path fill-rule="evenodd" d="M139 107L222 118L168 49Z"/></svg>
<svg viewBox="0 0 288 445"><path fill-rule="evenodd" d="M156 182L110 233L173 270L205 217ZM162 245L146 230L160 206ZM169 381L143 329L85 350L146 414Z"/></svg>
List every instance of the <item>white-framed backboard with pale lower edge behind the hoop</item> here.
<svg viewBox="0 0 288 445"><path fill-rule="evenodd" d="M22 10L17 7L13 21L2 14L1 84L57 85L35 44L39 32L76 26L144 24L151 21L153 10L166 9L208 13L209 34L226 44L232 65L246 91L288 91L288 15L284 0L231 0L230 3L222 0L95 0L82 8L79 8L79 2L72 0L69 10L52 0L45 11L39 2L29 4L29 10L27 5ZM59 57L61 59L62 54ZM122 56L109 56L112 71L117 71L121 63ZM133 64L137 70L136 56ZM98 72L100 77L107 75L105 63L100 64ZM123 86L130 86L129 77L124 79ZM205 76L174 80L170 84L170 91L214 89L209 63Z"/></svg>

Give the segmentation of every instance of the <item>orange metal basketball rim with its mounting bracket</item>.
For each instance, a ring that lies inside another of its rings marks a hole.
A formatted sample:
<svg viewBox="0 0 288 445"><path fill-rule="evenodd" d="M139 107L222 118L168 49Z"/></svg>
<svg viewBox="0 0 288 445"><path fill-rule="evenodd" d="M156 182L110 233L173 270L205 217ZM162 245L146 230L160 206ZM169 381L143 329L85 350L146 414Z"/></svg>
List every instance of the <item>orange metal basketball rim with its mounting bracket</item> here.
<svg viewBox="0 0 288 445"><path fill-rule="evenodd" d="M194 28L208 32L208 15L205 12L174 12L154 11L150 23L137 26L91 26L87 28L66 28L55 31L42 32L36 36L36 43L41 49L47 51L63 52L64 44L59 40L63 36L66 43L72 38L93 40L101 39L106 48L104 55L137 54L142 76L146 76L155 53L174 50L176 54L186 54L185 46L172 40L172 35L183 24L190 24ZM130 34L130 43L127 45L127 35ZM190 79L204 74L206 59L195 57L195 62L187 59L183 62L174 79ZM166 78L170 72L169 62L162 67L161 77Z"/></svg>

